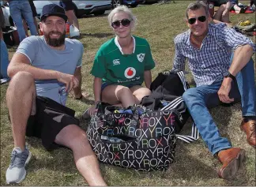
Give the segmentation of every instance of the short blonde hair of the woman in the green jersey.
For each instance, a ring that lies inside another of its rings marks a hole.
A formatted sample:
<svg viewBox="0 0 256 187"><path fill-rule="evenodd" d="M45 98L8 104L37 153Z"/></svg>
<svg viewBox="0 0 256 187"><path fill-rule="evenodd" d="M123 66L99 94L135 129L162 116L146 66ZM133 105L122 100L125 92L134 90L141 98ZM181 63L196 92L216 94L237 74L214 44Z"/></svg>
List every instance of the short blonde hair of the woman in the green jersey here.
<svg viewBox="0 0 256 187"><path fill-rule="evenodd" d="M130 21L131 21L130 22L131 28L134 29L135 25L137 24L137 18L134 16L134 14L131 12L131 10L128 9L127 6L117 6L117 7L115 7L115 9L112 9L111 13L109 13L107 16L108 24L111 26L111 23L113 21L112 19L113 19L115 13L120 13L120 12L127 13L127 15L130 18Z"/></svg>

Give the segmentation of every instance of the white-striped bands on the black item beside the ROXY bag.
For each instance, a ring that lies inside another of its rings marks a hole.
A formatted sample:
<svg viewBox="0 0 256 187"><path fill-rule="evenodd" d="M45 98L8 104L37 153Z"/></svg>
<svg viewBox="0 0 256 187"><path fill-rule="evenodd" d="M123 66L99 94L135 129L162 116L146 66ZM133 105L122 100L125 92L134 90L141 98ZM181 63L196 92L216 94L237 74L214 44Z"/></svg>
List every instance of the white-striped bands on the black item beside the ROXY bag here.
<svg viewBox="0 0 256 187"><path fill-rule="evenodd" d="M186 78L184 76L183 71L177 72L177 75L179 76L179 79L183 83L184 91L186 91L188 88L187 88L187 85L186 85ZM161 110L175 109L175 107L177 107L182 102L184 102L183 97L178 97L178 98L174 99L173 101L171 101L171 103L168 103L168 105L163 107ZM198 128L196 127L195 123L193 123L192 128L191 128L191 135L190 136L177 134L177 137L178 137L179 140L183 140L186 143L194 142L195 140L199 139Z"/></svg>

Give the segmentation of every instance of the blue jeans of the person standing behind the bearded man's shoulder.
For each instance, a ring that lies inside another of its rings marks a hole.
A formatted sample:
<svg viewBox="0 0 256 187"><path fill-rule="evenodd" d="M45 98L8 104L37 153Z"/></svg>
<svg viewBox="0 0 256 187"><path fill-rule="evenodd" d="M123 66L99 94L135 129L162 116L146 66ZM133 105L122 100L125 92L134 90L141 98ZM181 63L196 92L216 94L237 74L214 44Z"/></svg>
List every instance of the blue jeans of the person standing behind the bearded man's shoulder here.
<svg viewBox="0 0 256 187"><path fill-rule="evenodd" d="M25 21L28 23L28 27L30 29L31 35L37 36L36 26L34 24L34 18L32 15L32 10L28 1L11 0L9 2L9 12L11 14L11 17L13 18L14 23L17 26L17 32L19 33L20 42L26 37L23 23L22 23L21 13Z"/></svg>

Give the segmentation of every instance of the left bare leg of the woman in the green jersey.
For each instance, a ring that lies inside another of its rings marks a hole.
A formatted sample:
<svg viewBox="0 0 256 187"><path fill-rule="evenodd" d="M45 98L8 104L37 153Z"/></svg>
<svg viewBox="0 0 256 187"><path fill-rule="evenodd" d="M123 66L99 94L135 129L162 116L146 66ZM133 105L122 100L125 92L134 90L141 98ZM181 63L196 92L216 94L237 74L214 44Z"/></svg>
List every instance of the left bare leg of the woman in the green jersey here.
<svg viewBox="0 0 256 187"><path fill-rule="evenodd" d="M102 100L112 105L122 103L122 107L135 104L134 95L130 88L121 85L108 85L102 92Z"/></svg>

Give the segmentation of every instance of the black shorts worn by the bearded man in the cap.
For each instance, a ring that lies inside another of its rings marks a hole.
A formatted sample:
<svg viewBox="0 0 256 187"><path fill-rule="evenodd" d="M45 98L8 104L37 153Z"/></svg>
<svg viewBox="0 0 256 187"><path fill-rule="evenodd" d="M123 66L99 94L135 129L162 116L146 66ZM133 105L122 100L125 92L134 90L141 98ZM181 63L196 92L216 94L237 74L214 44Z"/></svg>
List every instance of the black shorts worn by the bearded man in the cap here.
<svg viewBox="0 0 256 187"><path fill-rule="evenodd" d="M27 137L39 137L48 151L58 148L55 137L67 125L79 125L75 111L47 97L36 97L36 115L28 118Z"/></svg>

